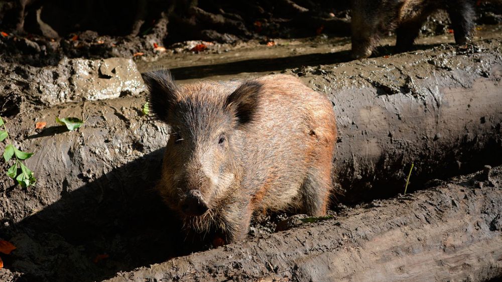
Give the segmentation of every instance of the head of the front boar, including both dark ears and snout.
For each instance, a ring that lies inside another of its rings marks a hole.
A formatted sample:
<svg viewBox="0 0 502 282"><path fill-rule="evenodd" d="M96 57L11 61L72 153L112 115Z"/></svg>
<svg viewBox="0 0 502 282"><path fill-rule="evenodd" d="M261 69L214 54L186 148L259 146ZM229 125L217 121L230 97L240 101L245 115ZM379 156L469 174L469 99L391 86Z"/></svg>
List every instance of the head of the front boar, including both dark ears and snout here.
<svg viewBox="0 0 502 282"><path fill-rule="evenodd" d="M203 215L240 181L243 133L256 115L261 84L245 81L228 94L212 83L178 87L166 71L144 79L152 112L173 131L157 188L173 209Z"/></svg>

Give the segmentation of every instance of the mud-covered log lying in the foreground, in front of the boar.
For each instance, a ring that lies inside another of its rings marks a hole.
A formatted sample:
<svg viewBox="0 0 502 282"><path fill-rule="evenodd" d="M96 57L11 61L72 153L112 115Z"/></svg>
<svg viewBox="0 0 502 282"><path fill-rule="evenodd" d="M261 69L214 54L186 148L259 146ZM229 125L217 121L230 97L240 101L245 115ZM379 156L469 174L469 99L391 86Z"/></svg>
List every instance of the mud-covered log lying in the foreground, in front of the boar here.
<svg viewBox="0 0 502 282"><path fill-rule="evenodd" d="M108 281L484 281L502 275L501 185L487 169Z"/></svg>

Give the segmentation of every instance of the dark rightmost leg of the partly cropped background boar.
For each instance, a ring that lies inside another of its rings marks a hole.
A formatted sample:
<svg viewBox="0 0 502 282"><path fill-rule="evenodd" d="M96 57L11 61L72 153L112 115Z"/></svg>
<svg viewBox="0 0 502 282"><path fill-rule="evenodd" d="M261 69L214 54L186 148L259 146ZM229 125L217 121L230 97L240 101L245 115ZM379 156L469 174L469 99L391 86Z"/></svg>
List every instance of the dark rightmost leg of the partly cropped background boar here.
<svg viewBox="0 0 502 282"><path fill-rule="evenodd" d="M470 41L474 29L474 8L469 0L451 1L450 5L447 11L453 25L455 42L465 44Z"/></svg>

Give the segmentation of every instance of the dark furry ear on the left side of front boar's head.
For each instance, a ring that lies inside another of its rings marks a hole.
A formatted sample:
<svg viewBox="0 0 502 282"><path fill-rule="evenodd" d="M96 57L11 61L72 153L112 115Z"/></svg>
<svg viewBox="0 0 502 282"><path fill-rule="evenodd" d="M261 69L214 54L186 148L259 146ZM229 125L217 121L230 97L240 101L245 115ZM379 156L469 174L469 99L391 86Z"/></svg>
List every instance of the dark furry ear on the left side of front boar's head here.
<svg viewBox="0 0 502 282"><path fill-rule="evenodd" d="M142 74L148 88L148 102L154 118L167 121L176 100L177 86L168 70L158 70Z"/></svg>

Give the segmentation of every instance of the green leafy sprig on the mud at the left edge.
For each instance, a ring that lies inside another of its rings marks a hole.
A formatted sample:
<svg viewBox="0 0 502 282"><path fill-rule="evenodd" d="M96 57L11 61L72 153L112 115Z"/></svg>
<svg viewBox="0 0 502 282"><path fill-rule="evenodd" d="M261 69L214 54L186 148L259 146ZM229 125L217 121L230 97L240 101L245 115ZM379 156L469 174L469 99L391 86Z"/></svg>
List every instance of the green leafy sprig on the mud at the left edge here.
<svg viewBox="0 0 502 282"><path fill-rule="evenodd" d="M14 160L12 157L15 157L14 165L7 170L7 175L15 179L23 188L35 184L37 180L33 177L33 172L22 162L33 156L33 153L26 153L14 147L2 117L0 117L0 126L4 127L4 130L0 130L0 142L3 142L5 139L7 139L8 142L3 154L6 164L9 164L11 160Z"/></svg>

